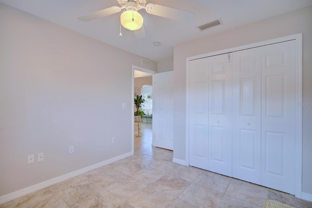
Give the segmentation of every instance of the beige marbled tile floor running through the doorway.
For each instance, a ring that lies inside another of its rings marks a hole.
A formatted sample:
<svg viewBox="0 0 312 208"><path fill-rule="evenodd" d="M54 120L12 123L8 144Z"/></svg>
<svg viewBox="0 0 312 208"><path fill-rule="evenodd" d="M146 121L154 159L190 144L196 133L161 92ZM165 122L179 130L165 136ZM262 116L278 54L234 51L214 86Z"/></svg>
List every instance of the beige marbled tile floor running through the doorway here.
<svg viewBox="0 0 312 208"><path fill-rule="evenodd" d="M135 154L1 204L0 208L262 208L266 199L296 208L312 202L172 162L151 146L151 122L135 137Z"/></svg>

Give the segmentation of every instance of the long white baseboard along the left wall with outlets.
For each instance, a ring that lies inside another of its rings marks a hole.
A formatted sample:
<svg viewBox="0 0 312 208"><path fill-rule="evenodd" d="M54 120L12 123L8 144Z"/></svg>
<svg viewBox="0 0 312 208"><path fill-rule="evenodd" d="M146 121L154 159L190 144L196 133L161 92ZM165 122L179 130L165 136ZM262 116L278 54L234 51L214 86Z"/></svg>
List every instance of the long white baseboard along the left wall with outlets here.
<svg viewBox="0 0 312 208"><path fill-rule="evenodd" d="M91 166L88 166L88 167L85 167L85 168L82 168L82 169L79 169L79 170L75 170L73 172L66 173L64 175L61 175L61 176L49 179L47 181L43 181L43 182L41 182L39 184L35 184L33 186L30 186L30 187L27 187L27 188L24 188L24 189L20 189L20 190L14 191L12 193L8 193L6 195L0 196L0 204L8 202L8 201L13 200L13 199L16 199L16 198L18 198L20 196L23 196L23 195L26 195L28 193L34 192L36 190L49 187L49 186L51 186L53 184L57 184L57 183L59 183L61 181L65 181L65 180L67 180L69 178L75 177L77 175L80 175L82 173L88 172L90 170L94 170L94 169L97 169L99 167L108 165L110 163L116 162L118 160L121 160L123 158L129 157L131 155L133 155L132 151L128 152L128 153L125 153L125 154L122 154L122 155L119 155L117 157L114 157L114 158L111 158L111 159L99 162L97 164L94 164L94 165L91 165Z"/></svg>

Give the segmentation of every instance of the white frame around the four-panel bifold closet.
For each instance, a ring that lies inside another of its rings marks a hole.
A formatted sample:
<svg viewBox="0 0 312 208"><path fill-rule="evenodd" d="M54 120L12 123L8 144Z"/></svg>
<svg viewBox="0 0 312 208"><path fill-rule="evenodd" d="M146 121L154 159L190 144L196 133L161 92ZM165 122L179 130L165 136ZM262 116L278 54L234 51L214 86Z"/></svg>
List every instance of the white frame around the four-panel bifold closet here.
<svg viewBox="0 0 312 208"><path fill-rule="evenodd" d="M232 53L235 51L246 50L254 47L261 47L265 45L270 45L274 43L295 40L296 43L296 103L302 103L302 33L285 36L281 38L274 38L270 40L265 40L261 42L256 42L248 45L238 46L234 48L229 48L225 50L220 50L212 53L197 55L194 57L186 58L186 128L185 128L185 136L186 136L186 144L185 144L185 163L183 165L189 166L189 73L190 66L189 62L191 60L211 57L221 54ZM302 198L302 106L296 107L296 126L295 126L295 196L298 198Z"/></svg>

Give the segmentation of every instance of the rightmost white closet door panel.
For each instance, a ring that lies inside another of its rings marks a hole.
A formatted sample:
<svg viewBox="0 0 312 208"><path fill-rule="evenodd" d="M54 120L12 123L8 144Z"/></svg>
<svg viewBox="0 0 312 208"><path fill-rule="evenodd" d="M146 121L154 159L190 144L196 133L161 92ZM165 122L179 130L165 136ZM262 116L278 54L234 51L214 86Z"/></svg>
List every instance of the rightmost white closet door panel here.
<svg viewBox="0 0 312 208"><path fill-rule="evenodd" d="M294 194L295 41L261 49L261 185Z"/></svg>

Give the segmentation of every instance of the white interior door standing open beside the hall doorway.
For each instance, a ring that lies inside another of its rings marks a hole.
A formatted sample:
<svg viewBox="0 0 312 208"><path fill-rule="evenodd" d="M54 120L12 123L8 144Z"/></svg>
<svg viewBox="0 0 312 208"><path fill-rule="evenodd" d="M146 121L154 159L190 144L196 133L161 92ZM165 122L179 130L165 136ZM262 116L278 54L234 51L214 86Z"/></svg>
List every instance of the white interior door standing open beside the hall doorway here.
<svg viewBox="0 0 312 208"><path fill-rule="evenodd" d="M156 147L174 149L174 72L154 75L153 95L153 144Z"/></svg>

